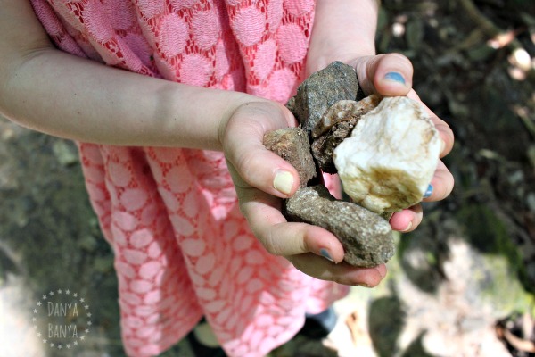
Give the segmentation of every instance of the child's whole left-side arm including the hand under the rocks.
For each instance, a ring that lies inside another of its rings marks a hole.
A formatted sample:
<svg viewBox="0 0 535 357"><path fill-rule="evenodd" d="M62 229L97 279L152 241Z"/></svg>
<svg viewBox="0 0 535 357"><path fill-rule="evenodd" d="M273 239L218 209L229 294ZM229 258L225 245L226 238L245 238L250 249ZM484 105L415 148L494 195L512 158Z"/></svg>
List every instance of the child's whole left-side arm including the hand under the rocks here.
<svg viewBox="0 0 535 357"><path fill-rule="evenodd" d="M0 8L0 113L22 126L80 141L222 150L243 214L268 252L289 257L317 278L368 286L381 281L384 266L362 270L328 262L319 256L323 250L342 261L338 240L325 229L287 223L281 214L277 197L292 195L299 179L262 138L295 125L283 105L62 53L48 40L29 1L0 0Z"/></svg>

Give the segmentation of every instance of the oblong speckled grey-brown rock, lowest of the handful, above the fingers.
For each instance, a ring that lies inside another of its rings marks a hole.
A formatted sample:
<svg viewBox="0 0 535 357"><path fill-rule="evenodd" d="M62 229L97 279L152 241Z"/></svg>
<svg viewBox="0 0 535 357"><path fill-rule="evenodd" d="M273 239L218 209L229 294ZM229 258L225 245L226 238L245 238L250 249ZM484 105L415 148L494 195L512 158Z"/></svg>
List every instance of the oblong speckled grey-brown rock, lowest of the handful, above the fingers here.
<svg viewBox="0 0 535 357"><path fill-rule="evenodd" d="M323 185L300 188L288 198L284 215L327 229L342 243L344 261L358 267L375 267L394 255L387 220L357 204L336 200Z"/></svg>

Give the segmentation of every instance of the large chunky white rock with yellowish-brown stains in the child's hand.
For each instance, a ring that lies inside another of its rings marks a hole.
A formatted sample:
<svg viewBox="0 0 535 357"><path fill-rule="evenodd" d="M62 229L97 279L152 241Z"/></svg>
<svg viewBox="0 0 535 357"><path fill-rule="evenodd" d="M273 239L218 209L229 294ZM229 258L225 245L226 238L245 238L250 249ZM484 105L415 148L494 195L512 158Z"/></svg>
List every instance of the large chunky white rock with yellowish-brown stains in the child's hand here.
<svg viewBox="0 0 535 357"><path fill-rule="evenodd" d="M368 210L399 212L419 203L440 155L440 137L424 105L385 97L336 147L343 190Z"/></svg>

